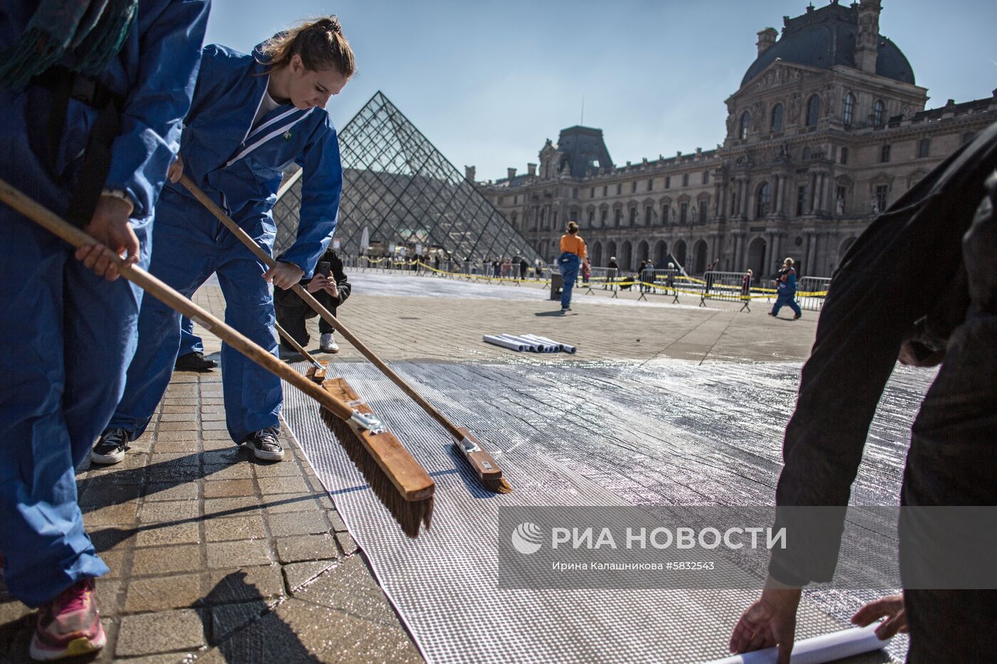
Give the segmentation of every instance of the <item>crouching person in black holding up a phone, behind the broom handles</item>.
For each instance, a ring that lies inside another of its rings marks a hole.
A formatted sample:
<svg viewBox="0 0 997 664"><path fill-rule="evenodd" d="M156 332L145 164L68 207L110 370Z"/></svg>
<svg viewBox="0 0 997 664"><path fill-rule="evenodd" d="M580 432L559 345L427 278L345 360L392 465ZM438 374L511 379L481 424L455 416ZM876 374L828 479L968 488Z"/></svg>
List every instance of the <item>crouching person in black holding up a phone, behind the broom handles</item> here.
<svg viewBox="0 0 997 664"><path fill-rule="evenodd" d="M336 308L350 296L350 281L343 271L343 261L333 249L326 250L315 268L315 276L303 279L301 285L333 316L336 315ZM280 327L299 344L306 346L310 336L305 328L305 321L314 318L318 313L293 290L274 290L273 308ZM333 327L321 317L318 320L318 332L319 350L323 353L338 353L339 345L332 336ZM294 348L283 339L280 340L280 346L294 352Z"/></svg>

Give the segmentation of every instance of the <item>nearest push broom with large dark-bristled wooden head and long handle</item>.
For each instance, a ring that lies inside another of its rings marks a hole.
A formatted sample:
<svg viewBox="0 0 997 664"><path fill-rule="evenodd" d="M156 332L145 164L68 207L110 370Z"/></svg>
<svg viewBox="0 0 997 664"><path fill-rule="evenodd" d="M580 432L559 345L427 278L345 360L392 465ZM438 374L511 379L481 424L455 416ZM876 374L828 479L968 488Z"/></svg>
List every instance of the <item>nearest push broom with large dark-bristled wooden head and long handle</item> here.
<svg viewBox="0 0 997 664"><path fill-rule="evenodd" d="M0 200L77 248L98 243L3 179L0 179ZM339 379L326 381L321 387L316 385L149 272L125 265L118 256L115 258L119 273L126 279L321 404L323 421L402 530L410 537L417 537L420 524L430 526L436 492L433 479L374 417L370 408L359 402L344 381Z"/></svg>

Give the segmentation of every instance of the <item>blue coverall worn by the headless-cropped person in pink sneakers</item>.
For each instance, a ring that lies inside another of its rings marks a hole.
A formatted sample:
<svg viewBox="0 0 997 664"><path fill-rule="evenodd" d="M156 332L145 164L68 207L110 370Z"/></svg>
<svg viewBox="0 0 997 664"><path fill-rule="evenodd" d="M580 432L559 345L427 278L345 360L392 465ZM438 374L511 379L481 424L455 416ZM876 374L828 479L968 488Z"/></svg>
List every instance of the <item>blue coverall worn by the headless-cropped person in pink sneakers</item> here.
<svg viewBox="0 0 997 664"><path fill-rule="evenodd" d="M37 6L4 0L0 49L20 38ZM124 47L98 77L126 95L106 185L135 202L141 265L193 93L207 12L208 0L143 0ZM70 101L53 173L41 152L50 99L35 85L0 90L0 177L62 213L98 112ZM2 204L0 229L0 283L10 286L0 298L0 551L11 594L38 606L108 571L84 531L75 469L121 397L141 291L98 277L69 244Z"/></svg>

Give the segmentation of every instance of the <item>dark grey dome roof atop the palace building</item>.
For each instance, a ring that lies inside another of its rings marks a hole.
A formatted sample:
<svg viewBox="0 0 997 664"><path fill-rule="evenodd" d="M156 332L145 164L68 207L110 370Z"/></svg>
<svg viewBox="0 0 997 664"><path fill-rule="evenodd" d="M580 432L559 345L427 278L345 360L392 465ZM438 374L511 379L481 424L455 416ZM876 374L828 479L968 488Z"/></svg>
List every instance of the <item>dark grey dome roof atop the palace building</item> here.
<svg viewBox="0 0 997 664"><path fill-rule="evenodd" d="M836 2L821 9L809 8L803 16L783 18L783 35L759 55L741 81L750 83L777 59L818 69L834 65L856 67L855 38L858 33L858 6L842 7ZM875 73L901 83L914 84L914 72L897 46L879 35Z"/></svg>

